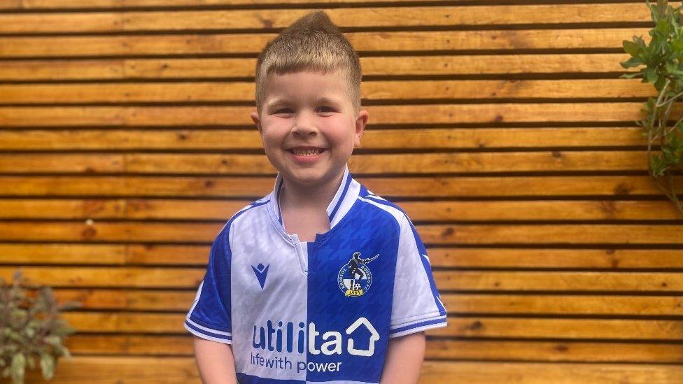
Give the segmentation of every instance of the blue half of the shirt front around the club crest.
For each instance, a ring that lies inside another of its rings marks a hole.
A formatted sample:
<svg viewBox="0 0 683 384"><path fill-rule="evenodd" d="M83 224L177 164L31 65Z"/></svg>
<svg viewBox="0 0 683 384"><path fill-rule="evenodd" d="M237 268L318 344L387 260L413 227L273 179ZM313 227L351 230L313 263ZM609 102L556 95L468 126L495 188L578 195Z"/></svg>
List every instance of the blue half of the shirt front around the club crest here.
<svg viewBox="0 0 683 384"><path fill-rule="evenodd" d="M307 361L315 364L312 371L307 371L307 381L379 382L388 343L398 233L398 223L391 215L358 201L334 229L318 236L319 242L309 243L309 323L314 323L320 334L316 336L315 349L311 351L309 347L307 354ZM369 286L367 278L359 279L362 294L346 296L339 284L339 273L356 252L360 253L360 260L379 256L363 265L362 273L369 271L370 276L365 277L371 277ZM379 340L372 339L366 320L359 322L361 318L367 319ZM353 332L346 334L356 322ZM325 338L325 332L337 333ZM339 334L339 344L333 343ZM349 353L349 339L353 339L353 349L361 351L354 353L365 354L362 351L372 347L372 355ZM320 352L316 355L314 351ZM330 368L335 371L330 372Z"/></svg>

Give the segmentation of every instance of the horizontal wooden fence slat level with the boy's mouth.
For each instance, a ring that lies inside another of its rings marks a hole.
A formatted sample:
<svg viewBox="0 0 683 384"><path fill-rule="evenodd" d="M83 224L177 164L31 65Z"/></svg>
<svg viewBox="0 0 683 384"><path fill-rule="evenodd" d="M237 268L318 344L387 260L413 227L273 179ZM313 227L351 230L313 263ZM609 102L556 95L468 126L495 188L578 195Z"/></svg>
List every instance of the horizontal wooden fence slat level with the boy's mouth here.
<svg viewBox="0 0 683 384"><path fill-rule="evenodd" d="M355 173L453 173L534 171L645 171L645 151L464 152L355 155ZM5 154L2 173L218 173L268 175L264 155L208 154Z"/></svg>

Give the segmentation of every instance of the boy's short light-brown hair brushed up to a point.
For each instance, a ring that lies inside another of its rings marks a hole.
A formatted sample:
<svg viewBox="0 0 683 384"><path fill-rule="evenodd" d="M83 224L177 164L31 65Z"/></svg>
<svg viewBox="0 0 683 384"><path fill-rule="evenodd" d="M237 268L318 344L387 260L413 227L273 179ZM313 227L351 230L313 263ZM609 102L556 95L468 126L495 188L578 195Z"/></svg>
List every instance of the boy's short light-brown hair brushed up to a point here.
<svg viewBox="0 0 683 384"><path fill-rule="evenodd" d="M258 113L261 113L265 83L271 73L337 70L342 70L346 77L346 96L358 113L362 77L358 53L323 10L304 15L269 41L258 56L255 81Z"/></svg>

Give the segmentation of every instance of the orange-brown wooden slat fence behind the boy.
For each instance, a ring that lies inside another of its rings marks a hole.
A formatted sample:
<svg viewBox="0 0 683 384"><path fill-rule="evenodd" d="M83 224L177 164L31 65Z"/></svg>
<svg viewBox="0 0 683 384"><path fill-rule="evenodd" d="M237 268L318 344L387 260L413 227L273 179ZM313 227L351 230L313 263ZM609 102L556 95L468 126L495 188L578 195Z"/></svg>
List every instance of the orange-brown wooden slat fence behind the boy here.
<svg viewBox="0 0 683 384"><path fill-rule="evenodd" d="M184 315L275 173L255 59L316 8L361 56L351 171L449 309L421 383L683 383L683 221L619 78L644 2L1 0L0 276L83 302L53 382L201 382Z"/></svg>

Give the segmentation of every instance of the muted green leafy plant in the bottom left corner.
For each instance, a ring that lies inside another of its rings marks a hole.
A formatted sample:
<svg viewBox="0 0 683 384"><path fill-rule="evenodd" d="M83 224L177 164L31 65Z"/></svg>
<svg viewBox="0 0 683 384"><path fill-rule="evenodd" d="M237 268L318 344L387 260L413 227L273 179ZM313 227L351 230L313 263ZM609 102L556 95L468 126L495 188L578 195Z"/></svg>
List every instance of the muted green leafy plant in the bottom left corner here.
<svg viewBox="0 0 683 384"><path fill-rule="evenodd" d="M0 377L24 383L27 365L35 369L37 358L43 378L50 380L59 357L71 357L63 340L75 332L59 318L59 311L81 305L69 301L58 306L50 287L31 287L20 271L13 278L11 285L0 278ZM27 294L23 286L34 294Z"/></svg>

